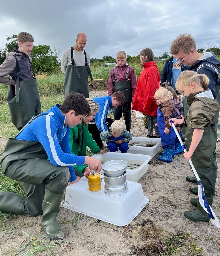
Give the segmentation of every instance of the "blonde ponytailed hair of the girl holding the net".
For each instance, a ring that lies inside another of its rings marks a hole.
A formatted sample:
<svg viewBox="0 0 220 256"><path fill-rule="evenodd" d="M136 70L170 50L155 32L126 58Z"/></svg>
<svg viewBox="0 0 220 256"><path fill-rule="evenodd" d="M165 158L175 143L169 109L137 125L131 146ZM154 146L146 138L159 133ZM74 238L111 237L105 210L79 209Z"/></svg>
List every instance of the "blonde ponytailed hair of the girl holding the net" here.
<svg viewBox="0 0 220 256"><path fill-rule="evenodd" d="M188 86L190 83L195 83L197 85L200 85L204 90L207 89L207 86L209 84L209 78L205 74L197 74L194 71L183 71L179 78L176 81L176 89L179 92L181 91L181 86L185 85Z"/></svg>

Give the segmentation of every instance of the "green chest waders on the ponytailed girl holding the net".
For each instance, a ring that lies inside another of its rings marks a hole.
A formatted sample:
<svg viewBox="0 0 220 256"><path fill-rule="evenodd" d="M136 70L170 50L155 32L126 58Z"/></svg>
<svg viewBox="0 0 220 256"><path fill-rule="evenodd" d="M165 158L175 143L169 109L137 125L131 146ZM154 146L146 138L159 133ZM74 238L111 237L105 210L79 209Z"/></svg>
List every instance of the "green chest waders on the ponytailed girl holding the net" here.
<svg viewBox="0 0 220 256"><path fill-rule="evenodd" d="M180 125L182 136L185 140L186 150L189 150L193 128L186 127L185 124ZM206 196L213 196L214 193L214 177L212 171L212 155L216 144L216 126L215 124L205 127L203 136L199 145L193 152L191 160L202 181Z"/></svg>

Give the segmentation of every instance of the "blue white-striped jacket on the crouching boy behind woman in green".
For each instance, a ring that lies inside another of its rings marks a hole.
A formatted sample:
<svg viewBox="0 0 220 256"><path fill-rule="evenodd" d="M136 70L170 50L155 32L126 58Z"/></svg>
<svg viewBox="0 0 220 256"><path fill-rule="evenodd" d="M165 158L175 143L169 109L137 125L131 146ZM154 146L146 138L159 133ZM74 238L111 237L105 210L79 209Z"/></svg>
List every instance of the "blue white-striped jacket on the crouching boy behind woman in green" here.
<svg viewBox="0 0 220 256"><path fill-rule="evenodd" d="M99 112L95 115L96 126L100 132L107 131L108 127L105 124L105 120L108 115L108 109L112 108L112 97L96 97L93 100L99 105Z"/></svg>

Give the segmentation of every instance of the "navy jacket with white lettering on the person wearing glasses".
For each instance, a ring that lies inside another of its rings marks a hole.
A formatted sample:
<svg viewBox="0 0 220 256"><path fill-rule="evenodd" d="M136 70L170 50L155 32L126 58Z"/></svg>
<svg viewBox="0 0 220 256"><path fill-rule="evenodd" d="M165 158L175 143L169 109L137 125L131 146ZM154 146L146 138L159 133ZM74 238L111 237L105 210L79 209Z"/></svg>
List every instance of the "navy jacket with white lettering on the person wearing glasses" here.
<svg viewBox="0 0 220 256"><path fill-rule="evenodd" d="M204 56L200 57L189 70L195 71L197 74L205 74L209 78L208 88L212 91L214 99L216 99L216 86L219 86L219 60L215 54L205 53Z"/></svg>

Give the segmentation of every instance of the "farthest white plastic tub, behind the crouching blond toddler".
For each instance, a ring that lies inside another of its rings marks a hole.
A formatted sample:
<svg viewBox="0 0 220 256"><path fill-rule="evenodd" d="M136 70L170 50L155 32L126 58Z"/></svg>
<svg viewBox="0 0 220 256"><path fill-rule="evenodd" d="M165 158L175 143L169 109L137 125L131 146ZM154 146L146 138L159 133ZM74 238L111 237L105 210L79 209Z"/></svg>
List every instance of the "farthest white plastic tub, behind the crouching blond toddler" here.
<svg viewBox="0 0 220 256"><path fill-rule="evenodd" d="M130 146L131 143L155 143L153 147L143 147L143 146ZM132 137L132 140L129 141L129 149L127 153L130 154L142 154L149 155L153 158L159 151L161 145L161 139L159 138L147 138L147 137ZM117 151L117 153L120 150ZM124 160L124 159L123 159Z"/></svg>

